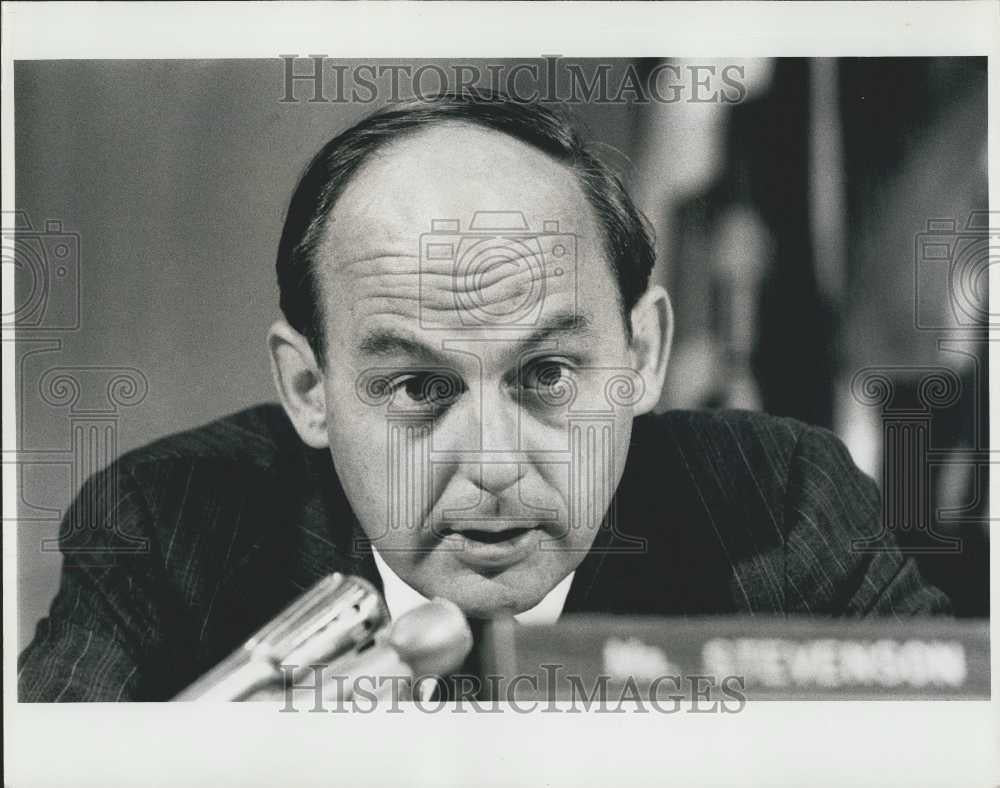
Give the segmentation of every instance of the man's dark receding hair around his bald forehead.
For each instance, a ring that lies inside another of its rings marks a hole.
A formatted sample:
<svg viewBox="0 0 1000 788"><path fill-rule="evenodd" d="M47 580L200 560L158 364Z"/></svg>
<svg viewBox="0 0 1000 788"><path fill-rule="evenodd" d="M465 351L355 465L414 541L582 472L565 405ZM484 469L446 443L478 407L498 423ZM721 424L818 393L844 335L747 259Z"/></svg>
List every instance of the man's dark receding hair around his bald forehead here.
<svg viewBox="0 0 1000 788"><path fill-rule="evenodd" d="M391 104L331 139L292 194L278 246L278 287L285 319L324 358L323 312L314 255L331 210L355 173L387 145L449 122L493 129L547 153L577 176L604 235L629 338L629 313L646 291L655 252L646 222L618 177L585 146L561 113L499 93L445 93Z"/></svg>

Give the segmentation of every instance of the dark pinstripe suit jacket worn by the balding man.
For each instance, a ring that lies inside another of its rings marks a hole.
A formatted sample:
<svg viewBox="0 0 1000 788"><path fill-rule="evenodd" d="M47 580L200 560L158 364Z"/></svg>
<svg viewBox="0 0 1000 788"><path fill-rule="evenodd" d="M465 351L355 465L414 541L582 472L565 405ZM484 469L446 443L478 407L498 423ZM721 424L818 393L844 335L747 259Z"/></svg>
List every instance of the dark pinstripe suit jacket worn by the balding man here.
<svg viewBox="0 0 1000 788"><path fill-rule="evenodd" d="M614 527L566 612L903 616L946 611L879 534L875 484L830 433L751 413L637 419ZM125 455L67 514L21 700L170 698L331 571L381 587L329 452L274 405ZM637 551L638 550L638 551Z"/></svg>

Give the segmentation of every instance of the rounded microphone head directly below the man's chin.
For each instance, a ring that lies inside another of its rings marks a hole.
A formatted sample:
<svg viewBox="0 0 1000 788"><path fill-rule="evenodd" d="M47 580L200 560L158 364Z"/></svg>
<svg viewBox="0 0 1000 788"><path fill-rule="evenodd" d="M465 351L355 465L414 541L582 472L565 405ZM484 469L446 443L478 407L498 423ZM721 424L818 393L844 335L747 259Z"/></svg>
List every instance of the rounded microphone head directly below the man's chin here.
<svg viewBox="0 0 1000 788"><path fill-rule="evenodd" d="M389 645L414 676L441 676L465 661L472 631L458 605L439 597L400 616L389 630Z"/></svg>

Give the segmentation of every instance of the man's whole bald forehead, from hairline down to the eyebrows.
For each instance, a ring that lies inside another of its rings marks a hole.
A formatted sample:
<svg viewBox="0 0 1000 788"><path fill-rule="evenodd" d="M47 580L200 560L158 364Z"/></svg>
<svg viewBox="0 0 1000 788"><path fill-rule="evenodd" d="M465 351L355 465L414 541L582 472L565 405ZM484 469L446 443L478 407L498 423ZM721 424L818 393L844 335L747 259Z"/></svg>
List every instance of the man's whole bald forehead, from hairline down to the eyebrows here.
<svg viewBox="0 0 1000 788"><path fill-rule="evenodd" d="M373 157L333 209L317 255L327 330L354 350L372 326L436 344L517 337L583 300L605 325L617 309L601 238L566 166L498 132L422 131Z"/></svg>

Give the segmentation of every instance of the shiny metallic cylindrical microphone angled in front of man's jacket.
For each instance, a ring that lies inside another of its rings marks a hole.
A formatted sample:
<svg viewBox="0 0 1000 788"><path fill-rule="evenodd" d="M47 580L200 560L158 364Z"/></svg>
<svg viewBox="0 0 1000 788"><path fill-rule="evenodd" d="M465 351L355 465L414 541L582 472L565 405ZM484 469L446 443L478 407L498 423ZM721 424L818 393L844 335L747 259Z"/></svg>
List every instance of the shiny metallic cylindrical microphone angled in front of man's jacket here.
<svg viewBox="0 0 1000 788"><path fill-rule="evenodd" d="M240 648L174 700L247 700L310 666L359 653L389 621L378 590L367 580L336 572L320 580Z"/></svg>

